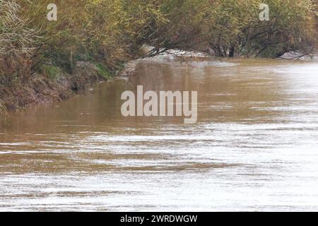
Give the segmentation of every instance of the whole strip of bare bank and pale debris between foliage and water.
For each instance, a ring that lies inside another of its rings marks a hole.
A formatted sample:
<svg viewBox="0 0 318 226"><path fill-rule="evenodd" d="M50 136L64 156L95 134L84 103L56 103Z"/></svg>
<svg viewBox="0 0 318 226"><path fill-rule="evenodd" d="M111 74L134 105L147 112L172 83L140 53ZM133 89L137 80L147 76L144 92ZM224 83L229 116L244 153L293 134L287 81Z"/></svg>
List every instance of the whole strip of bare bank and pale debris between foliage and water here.
<svg viewBox="0 0 318 226"><path fill-rule="evenodd" d="M144 47L143 52L151 52L150 47ZM187 58L211 58L208 54L199 52L186 52L177 49L163 52L157 57L146 57L141 59L158 59L161 57L187 57ZM86 90L98 81L107 81L112 76L129 76L136 64L141 60L127 61L119 64L115 71L110 71L107 66L93 64L87 61L78 61L71 73L67 73L57 66L45 66L40 73L33 74L32 78L23 82L17 81L6 87L0 85L0 114L33 107L50 102L59 102L72 97L76 93ZM286 53L280 59L317 61L317 54L303 56L300 53ZM3 117L2 117L3 118Z"/></svg>

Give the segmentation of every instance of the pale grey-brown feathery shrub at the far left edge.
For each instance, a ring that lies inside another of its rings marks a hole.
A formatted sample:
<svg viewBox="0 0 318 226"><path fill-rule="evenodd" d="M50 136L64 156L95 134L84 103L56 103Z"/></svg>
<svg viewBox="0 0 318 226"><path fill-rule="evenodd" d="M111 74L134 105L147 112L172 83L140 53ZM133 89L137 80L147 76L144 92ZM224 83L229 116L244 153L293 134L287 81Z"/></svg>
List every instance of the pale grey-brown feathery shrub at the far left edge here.
<svg viewBox="0 0 318 226"><path fill-rule="evenodd" d="M15 2L0 0L0 84L30 75L36 32L28 28L28 19L19 11Z"/></svg>

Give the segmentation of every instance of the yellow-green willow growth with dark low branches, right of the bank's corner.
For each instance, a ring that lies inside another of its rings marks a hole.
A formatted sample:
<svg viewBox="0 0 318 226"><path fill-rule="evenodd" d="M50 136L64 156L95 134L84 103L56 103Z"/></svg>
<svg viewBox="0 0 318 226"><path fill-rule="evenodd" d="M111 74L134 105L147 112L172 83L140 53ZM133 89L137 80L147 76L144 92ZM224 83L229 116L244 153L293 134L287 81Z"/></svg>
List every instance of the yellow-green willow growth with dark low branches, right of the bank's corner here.
<svg viewBox="0 0 318 226"><path fill-rule="evenodd" d="M280 57L312 52L317 43L317 3L312 0L160 1L168 22L159 25L156 49L194 49L218 57ZM259 6L269 6L260 20Z"/></svg>

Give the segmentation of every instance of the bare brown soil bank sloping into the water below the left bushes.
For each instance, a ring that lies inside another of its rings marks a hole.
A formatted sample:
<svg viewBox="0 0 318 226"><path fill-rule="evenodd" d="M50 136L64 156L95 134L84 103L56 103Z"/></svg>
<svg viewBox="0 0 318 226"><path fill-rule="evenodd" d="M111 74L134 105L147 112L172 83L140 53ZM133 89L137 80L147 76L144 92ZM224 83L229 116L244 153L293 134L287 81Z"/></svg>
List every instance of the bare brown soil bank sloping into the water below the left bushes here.
<svg viewBox="0 0 318 226"><path fill-rule="evenodd" d="M107 80L97 66L84 61L78 61L71 74L61 70L57 73L53 79L45 74L33 74L28 81L0 85L0 113L65 100L97 81Z"/></svg>

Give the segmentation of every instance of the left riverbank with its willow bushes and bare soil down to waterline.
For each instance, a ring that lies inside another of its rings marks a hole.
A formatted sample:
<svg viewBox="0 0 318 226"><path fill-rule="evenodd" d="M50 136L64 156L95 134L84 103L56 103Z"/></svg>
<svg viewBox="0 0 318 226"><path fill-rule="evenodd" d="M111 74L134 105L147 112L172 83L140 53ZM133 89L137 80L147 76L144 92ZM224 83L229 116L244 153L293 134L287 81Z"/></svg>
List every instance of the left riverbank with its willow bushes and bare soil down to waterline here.
<svg viewBox="0 0 318 226"><path fill-rule="evenodd" d="M109 79L160 16L155 4L134 1L0 1L1 119Z"/></svg>

